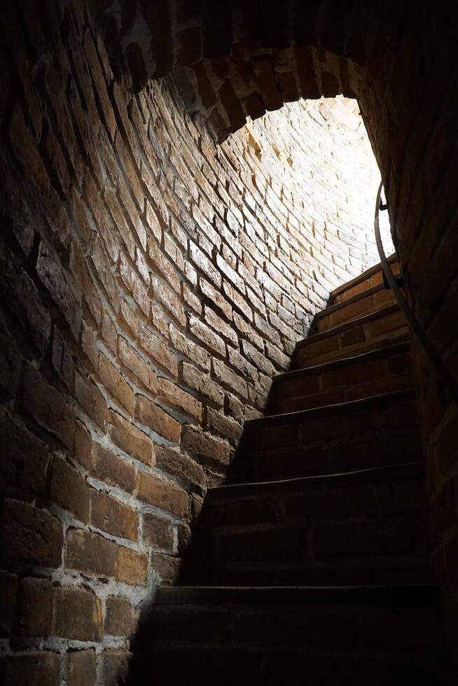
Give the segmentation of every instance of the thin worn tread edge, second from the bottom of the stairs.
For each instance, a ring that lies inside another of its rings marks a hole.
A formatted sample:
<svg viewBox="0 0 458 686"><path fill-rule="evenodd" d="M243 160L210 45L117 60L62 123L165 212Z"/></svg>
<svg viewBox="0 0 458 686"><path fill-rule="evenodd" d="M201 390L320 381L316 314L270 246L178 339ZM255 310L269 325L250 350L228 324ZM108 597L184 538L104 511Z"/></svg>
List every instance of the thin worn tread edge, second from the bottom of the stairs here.
<svg viewBox="0 0 458 686"><path fill-rule="evenodd" d="M421 479L423 465L421 462L407 462L398 465L382 465L351 472L338 474L322 474L307 477L293 477L291 479L275 479L269 481L249 482L242 484L228 484L208 489L207 498L211 500L221 498L235 498L244 496L251 498L254 493L270 493L285 489L300 490L307 488L331 488L333 486L354 486L358 483L383 483L387 481L401 481L405 479Z"/></svg>

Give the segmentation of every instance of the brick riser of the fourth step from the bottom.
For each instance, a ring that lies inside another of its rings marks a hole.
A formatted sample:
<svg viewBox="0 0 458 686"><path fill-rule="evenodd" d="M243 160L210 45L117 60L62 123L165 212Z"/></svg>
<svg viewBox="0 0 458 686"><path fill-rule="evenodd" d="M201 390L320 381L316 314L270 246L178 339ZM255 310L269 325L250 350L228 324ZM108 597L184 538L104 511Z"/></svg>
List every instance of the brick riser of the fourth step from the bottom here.
<svg viewBox="0 0 458 686"><path fill-rule="evenodd" d="M273 379L266 414L361 400L412 387L410 343L398 343Z"/></svg>

